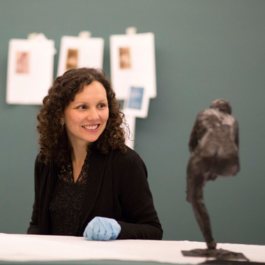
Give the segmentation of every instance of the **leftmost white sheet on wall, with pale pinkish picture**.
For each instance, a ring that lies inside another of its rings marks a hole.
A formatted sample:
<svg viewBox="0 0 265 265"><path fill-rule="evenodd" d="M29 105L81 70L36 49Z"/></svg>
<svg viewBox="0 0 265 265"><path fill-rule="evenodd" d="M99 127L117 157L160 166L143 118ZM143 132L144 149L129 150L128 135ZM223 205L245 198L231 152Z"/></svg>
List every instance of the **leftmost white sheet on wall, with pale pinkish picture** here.
<svg viewBox="0 0 265 265"><path fill-rule="evenodd" d="M52 85L55 53L54 40L43 33L9 41L6 103L42 104Z"/></svg>

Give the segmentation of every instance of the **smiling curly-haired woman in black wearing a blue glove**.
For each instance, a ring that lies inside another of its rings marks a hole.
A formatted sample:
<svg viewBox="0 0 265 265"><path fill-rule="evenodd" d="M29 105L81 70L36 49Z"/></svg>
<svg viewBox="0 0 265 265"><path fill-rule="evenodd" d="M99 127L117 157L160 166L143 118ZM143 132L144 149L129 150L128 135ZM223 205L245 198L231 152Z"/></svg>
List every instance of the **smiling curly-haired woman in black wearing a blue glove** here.
<svg viewBox="0 0 265 265"><path fill-rule="evenodd" d="M162 239L146 166L125 144L123 116L102 70L71 69L54 80L37 117L28 234Z"/></svg>

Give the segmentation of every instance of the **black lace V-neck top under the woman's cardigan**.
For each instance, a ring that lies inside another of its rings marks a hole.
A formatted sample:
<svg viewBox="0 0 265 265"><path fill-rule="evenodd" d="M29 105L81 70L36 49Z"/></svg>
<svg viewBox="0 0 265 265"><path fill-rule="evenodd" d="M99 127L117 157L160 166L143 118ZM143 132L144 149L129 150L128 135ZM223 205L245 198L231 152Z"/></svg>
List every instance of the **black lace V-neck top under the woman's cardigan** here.
<svg viewBox="0 0 265 265"><path fill-rule="evenodd" d="M76 236L79 228L82 200L87 181L88 159L77 181L74 181L73 165L62 167L50 202L51 234Z"/></svg>

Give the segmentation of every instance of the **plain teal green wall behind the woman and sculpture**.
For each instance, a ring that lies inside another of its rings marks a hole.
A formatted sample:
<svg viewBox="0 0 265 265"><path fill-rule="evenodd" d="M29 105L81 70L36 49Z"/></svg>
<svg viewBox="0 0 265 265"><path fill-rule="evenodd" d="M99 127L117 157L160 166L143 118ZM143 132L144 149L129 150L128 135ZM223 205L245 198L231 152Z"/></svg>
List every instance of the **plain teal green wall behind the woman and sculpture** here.
<svg viewBox="0 0 265 265"><path fill-rule="evenodd" d="M264 0L0 0L0 232L27 231L38 153L39 107L5 101L8 41L42 32L59 51L61 36L89 30L105 39L109 75L109 36L127 27L155 34L158 97L136 121L135 150L149 169L164 239L203 241L185 202L188 139L197 113L225 98L239 121L241 172L206 184L213 235L264 245ZM57 65L58 53L54 77Z"/></svg>

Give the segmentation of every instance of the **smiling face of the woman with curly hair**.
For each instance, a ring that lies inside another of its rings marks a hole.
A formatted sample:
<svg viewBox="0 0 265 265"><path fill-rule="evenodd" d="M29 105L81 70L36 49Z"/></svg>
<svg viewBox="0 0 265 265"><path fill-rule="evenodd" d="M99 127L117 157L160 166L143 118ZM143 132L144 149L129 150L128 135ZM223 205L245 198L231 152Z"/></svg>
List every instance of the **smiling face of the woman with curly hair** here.
<svg viewBox="0 0 265 265"><path fill-rule="evenodd" d="M84 86L64 110L62 121L73 148L95 142L105 130L109 108L103 84L94 81Z"/></svg>

